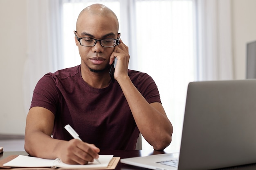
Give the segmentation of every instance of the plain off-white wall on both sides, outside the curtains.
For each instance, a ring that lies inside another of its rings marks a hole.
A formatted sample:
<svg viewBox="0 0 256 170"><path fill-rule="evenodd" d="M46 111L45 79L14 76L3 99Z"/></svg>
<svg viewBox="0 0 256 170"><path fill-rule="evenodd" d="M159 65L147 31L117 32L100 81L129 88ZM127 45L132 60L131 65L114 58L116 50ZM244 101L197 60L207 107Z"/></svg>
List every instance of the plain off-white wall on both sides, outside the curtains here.
<svg viewBox="0 0 256 170"><path fill-rule="evenodd" d="M234 72L236 79L243 79L246 43L256 40L256 0L231 3ZM22 76L27 57L26 9L26 0L0 0L0 133L25 133Z"/></svg>

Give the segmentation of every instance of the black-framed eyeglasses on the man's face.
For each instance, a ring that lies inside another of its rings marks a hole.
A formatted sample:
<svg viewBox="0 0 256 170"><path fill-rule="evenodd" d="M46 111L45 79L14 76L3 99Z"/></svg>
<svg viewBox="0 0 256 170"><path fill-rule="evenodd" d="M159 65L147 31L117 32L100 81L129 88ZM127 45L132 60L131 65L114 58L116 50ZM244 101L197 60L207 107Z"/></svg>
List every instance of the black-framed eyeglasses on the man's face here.
<svg viewBox="0 0 256 170"><path fill-rule="evenodd" d="M100 42L101 46L103 47L115 47L119 44L119 39L113 39L113 38L107 38L107 39L94 39L94 38L79 38L76 35L76 31L74 31L74 34L76 36L76 39L79 41L81 46L85 47L93 47L97 43L97 41ZM118 33L121 34L121 33Z"/></svg>

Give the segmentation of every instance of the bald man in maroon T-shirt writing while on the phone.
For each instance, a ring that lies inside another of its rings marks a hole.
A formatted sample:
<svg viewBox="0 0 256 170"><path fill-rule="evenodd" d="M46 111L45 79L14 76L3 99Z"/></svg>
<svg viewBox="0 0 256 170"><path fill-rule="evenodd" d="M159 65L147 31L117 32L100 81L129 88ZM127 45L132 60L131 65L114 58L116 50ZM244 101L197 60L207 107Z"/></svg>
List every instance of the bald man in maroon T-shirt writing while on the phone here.
<svg viewBox="0 0 256 170"><path fill-rule="evenodd" d="M86 164L99 157L100 149L135 149L139 132L154 149L171 143L173 128L157 86L147 74L128 70L128 47L118 29L115 13L102 4L81 11L74 31L81 65L38 81L27 115L27 153ZM115 57L112 82L109 70ZM83 142L72 139L66 124Z"/></svg>

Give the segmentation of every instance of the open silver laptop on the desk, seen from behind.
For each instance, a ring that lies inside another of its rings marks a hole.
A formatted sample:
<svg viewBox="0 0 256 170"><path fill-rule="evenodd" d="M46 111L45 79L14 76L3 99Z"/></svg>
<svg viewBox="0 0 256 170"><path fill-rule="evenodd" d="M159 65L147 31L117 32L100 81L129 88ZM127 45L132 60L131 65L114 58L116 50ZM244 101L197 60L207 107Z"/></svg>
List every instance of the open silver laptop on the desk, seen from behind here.
<svg viewBox="0 0 256 170"><path fill-rule="evenodd" d="M189 83L180 155L121 162L157 170L245 168L240 165L256 163L256 79Z"/></svg>

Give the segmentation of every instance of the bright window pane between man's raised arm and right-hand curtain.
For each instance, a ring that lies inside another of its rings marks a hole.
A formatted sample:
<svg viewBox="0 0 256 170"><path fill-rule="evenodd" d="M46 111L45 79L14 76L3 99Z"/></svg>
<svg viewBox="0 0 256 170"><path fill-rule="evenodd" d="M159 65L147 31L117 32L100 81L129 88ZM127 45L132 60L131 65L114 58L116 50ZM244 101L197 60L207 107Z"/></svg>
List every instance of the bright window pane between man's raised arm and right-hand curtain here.
<svg viewBox="0 0 256 170"><path fill-rule="evenodd" d="M162 105L173 124L168 149L178 150L187 85L194 81L194 28L191 0L136 2L138 70L156 82ZM152 149L143 140L143 149Z"/></svg>

